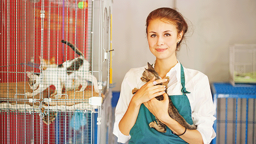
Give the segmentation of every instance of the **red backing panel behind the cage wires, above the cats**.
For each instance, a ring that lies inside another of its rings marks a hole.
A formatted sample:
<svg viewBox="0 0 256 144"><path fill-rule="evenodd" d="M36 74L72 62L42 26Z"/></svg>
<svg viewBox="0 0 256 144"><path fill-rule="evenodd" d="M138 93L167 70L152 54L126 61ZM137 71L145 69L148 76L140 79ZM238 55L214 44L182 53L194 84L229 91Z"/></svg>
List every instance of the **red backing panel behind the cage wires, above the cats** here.
<svg viewBox="0 0 256 144"><path fill-rule="evenodd" d="M41 1L1 1L0 82L25 81L26 71L40 72L39 56L44 59L54 56L58 64L75 58L73 50L61 43L62 39L85 52L88 9L79 9L75 0L44 0L43 6L44 18L41 18Z"/></svg>

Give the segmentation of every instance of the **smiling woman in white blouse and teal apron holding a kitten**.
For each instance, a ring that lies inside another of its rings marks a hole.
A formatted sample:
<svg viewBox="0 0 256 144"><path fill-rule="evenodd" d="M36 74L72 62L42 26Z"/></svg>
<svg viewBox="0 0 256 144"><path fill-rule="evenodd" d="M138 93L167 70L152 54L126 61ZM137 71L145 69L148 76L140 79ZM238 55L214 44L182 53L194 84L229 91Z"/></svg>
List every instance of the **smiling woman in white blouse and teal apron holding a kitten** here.
<svg viewBox="0 0 256 144"><path fill-rule="evenodd" d="M159 8L151 12L146 20L149 49L156 57L154 69L162 79L140 80L147 67L130 69L122 82L120 98L116 106L116 121L113 133L118 142L131 144L209 144L215 137L212 128L215 121L214 106L206 75L184 68L177 60L188 26L183 16L174 9ZM167 94L165 86L156 85L169 76ZM185 77L185 78L184 78ZM139 90L132 95L134 88ZM163 95L158 101L156 96ZM186 130L168 114L169 98L180 115L196 130ZM157 117L167 126L167 132L158 132L148 124Z"/></svg>

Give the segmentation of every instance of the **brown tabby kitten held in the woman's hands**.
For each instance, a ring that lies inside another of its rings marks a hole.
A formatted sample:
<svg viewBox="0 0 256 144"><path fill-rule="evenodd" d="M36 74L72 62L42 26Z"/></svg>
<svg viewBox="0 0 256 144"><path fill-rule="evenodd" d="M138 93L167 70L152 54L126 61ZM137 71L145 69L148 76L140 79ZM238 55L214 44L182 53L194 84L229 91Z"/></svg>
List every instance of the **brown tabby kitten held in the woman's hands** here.
<svg viewBox="0 0 256 144"><path fill-rule="evenodd" d="M154 70L154 67L151 66L151 64L148 63L148 69L145 69L145 71L142 74L142 77L140 78L142 81L144 82L148 82L150 81L152 78L154 78L154 76L156 77L155 80L160 79L158 73ZM167 93L167 84L169 82L169 77L166 77L166 79L168 79L167 82L161 84L161 85L165 85L166 86L166 90L165 92ZM134 88L132 90L132 93L135 94L137 92L137 88ZM159 95L157 97L155 97L158 101L162 101L163 100L163 95ZM177 111L177 109L175 108L175 106L172 103L171 98L169 97L169 108L168 108L168 113L170 115L171 118L175 119L177 122L179 122L183 127L186 127L189 130L195 130L197 128L196 125L190 125L186 122L186 120L179 114L179 112ZM156 121L152 121L149 124L149 127L153 127L154 129L156 129L159 132L166 132L166 125L163 124L161 121L159 121L156 117Z"/></svg>

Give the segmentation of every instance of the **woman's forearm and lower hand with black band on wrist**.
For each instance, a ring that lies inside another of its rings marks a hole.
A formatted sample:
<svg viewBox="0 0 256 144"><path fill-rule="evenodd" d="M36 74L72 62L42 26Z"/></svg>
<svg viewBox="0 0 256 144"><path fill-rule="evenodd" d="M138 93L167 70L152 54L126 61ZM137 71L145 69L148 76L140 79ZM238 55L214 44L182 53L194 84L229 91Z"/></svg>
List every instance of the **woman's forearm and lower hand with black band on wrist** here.
<svg viewBox="0 0 256 144"><path fill-rule="evenodd" d="M150 101L144 103L145 107L155 115L163 124L166 124L177 135L182 134L185 131L185 127L172 119L168 114L169 98L166 93L163 94L164 100L158 101L153 98ZM186 130L183 135L180 135L184 141L189 144L204 144L203 138L198 130Z"/></svg>

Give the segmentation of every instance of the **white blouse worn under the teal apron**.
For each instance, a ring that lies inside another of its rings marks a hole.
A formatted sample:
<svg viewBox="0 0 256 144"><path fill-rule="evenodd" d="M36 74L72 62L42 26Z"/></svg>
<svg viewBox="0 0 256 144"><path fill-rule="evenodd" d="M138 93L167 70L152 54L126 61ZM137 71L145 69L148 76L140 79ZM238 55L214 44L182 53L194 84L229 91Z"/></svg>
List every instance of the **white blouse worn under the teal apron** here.
<svg viewBox="0 0 256 144"><path fill-rule="evenodd" d="M131 136L123 135L120 132L118 124L125 114L128 105L133 97L131 93L135 87L140 89L145 82L140 80L145 67L130 69L122 82L119 101L116 105L115 123L113 128L113 134L117 136L117 141L121 143L127 142ZM187 97L191 106L192 120L197 125L197 130L203 137L204 144L209 144L216 133L214 132L212 125L215 121L213 116L215 113L215 107L212 102L212 94L209 86L209 80L203 73L184 68L185 75L185 88L188 92ZM180 63L178 62L167 74L170 81L168 84L168 95L182 95L181 82L180 82Z"/></svg>

